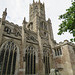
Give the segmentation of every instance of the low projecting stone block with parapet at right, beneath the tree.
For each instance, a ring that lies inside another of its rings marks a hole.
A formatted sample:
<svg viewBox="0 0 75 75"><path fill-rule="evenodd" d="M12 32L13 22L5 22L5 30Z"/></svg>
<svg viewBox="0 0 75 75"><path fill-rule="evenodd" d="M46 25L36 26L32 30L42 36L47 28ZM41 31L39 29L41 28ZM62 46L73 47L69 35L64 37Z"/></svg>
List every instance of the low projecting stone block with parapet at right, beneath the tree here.
<svg viewBox="0 0 75 75"><path fill-rule="evenodd" d="M75 54L73 47L68 41L64 41L59 45L62 50L62 55L54 56L55 68L58 69L61 75L75 75Z"/></svg>

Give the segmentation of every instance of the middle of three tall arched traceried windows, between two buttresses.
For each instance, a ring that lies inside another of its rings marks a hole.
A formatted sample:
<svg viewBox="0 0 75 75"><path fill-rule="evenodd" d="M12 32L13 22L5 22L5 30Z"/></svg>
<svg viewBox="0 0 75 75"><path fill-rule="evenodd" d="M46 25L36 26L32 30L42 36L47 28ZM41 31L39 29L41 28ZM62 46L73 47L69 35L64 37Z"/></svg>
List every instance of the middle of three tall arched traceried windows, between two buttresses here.
<svg viewBox="0 0 75 75"><path fill-rule="evenodd" d="M34 47L29 46L25 53L25 62L26 62L26 75L36 74L36 55Z"/></svg>

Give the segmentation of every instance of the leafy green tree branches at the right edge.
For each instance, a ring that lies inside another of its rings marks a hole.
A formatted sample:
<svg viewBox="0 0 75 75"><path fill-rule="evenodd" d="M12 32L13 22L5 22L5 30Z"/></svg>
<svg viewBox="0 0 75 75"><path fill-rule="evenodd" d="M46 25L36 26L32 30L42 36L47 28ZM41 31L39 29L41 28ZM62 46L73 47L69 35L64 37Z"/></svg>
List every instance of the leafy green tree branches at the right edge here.
<svg viewBox="0 0 75 75"><path fill-rule="evenodd" d="M75 42L75 1L72 2L72 6L66 9L66 13L59 16L62 19L62 23L59 25L58 35L64 34L64 32L69 32L73 34L73 38L70 40Z"/></svg>

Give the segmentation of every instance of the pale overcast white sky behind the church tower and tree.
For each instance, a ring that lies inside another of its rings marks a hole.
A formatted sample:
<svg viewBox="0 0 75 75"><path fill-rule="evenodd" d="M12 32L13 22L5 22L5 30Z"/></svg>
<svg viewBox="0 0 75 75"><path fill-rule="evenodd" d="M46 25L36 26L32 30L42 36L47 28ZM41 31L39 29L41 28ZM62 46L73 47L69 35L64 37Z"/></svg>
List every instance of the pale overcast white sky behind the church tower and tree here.
<svg viewBox="0 0 75 75"><path fill-rule="evenodd" d="M38 0L35 0L38 1ZM64 14L66 9L71 6L71 0L40 0L45 3L46 20L51 19L54 39L57 42L72 38L72 35L65 33L64 35L57 35L59 24L59 15ZM15 24L22 25L23 18L29 21L29 4L33 0L0 0L0 17L5 8L7 8L7 20Z"/></svg>

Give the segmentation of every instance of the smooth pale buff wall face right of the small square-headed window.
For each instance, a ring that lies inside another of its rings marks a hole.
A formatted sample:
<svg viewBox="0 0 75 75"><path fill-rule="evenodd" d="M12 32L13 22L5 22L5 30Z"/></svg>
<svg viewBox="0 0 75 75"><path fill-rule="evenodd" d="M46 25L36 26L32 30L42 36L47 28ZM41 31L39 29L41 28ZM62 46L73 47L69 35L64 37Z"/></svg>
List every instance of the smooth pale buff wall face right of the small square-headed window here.
<svg viewBox="0 0 75 75"><path fill-rule="evenodd" d="M64 75L73 75L70 53L68 49L68 45L63 46L63 73Z"/></svg>

